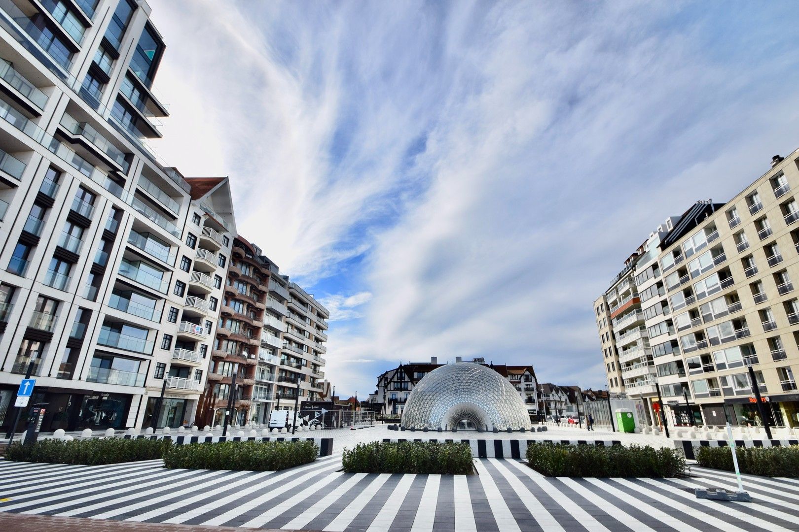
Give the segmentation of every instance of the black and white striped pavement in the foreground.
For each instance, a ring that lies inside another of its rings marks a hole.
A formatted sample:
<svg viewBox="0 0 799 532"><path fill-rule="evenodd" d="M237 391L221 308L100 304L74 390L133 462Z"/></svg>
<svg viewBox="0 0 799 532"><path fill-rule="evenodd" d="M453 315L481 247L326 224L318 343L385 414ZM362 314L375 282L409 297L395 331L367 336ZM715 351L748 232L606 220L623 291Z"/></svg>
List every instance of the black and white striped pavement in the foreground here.
<svg viewBox="0 0 799 532"><path fill-rule="evenodd" d="M547 478L518 459L475 460L477 475L366 475L340 455L286 471L166 470L0 461L0 512L287 530L799 530L799 480L745 475L752 503L696 499L735 476Z"/></svg>

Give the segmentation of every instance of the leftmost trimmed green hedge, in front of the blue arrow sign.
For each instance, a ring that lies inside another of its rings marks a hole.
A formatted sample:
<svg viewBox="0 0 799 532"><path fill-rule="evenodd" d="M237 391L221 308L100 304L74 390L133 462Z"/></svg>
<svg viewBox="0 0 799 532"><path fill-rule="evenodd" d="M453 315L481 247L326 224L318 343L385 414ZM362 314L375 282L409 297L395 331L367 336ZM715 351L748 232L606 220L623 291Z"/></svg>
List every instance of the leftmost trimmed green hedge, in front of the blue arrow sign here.
<svg viewBox="0 0 799 532"><path fill-rule="evenodd" d="M22 445L16 442L6 451L6 460L15 462L70 463L99 466L106 463L159 459L172 447L167 439L39 439Z"/></svg>

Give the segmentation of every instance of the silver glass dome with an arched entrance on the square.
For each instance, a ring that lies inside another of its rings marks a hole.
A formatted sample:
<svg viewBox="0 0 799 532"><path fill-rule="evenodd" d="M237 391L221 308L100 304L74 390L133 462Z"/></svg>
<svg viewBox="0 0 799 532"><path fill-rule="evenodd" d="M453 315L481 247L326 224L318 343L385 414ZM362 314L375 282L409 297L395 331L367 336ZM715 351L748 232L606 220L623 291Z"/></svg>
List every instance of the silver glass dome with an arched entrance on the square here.
<svg viewBox="0 0 799 532"><path fill-rule="evenodd" d="M411 391L402 415L404 428L450 430L474 426L491 431L531 428L519 392L493 368L471 362L443 365Z"/></svg>

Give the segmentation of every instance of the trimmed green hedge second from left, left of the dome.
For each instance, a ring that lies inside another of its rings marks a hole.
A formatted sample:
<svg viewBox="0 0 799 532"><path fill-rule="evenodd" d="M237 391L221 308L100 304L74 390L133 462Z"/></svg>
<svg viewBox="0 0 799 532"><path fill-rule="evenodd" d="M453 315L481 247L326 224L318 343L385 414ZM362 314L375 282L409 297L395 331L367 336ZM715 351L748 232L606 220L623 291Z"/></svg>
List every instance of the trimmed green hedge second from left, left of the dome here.
<svg viewBox="0 0 799 532"><path fill-rule="evenodd" d="M176 445L164 453L164 467L171 469L224 469L231 471L280 471L311 463L319 455L312 441L229 441Z"/></svg>

